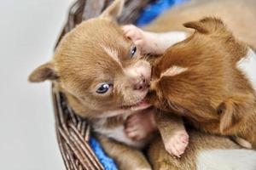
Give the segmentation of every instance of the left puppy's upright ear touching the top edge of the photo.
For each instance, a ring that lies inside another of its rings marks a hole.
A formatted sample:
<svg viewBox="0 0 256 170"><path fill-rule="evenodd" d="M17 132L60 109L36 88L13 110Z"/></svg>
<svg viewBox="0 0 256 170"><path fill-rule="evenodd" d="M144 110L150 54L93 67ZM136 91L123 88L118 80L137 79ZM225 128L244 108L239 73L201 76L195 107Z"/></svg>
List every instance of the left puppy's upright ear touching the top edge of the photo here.
<svg viewBox="0 0 256 170"><path fill-rule="evenodd" d="M100 17L108 20L116 20L121 14L124 8L124 5L125 5L125 0L115 0L108 8L106 8L102 12Z"/></svg>

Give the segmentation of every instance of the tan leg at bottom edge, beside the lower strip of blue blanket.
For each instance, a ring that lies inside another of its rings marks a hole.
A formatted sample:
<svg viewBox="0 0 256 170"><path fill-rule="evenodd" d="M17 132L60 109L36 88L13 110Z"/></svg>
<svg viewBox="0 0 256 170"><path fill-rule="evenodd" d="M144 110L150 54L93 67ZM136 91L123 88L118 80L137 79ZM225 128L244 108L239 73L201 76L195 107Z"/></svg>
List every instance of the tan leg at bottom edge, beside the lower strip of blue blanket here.
<svg viewBox="0 0 256 170"><path fill-rule="evenodd" d="M125 144L97 135L103 149L108 156L116 161L120 170L151 170L149 162L140 150L133 149Z"/></svg>

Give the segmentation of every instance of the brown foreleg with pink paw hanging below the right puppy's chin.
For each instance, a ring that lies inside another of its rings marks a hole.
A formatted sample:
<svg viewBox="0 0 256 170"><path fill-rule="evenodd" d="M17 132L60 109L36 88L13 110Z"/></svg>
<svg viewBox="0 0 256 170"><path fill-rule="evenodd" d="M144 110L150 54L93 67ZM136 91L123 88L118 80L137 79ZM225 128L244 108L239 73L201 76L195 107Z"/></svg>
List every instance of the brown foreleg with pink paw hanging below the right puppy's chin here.
<svg viewBox="0 0 256 170"><path fill-rule="evenodd" d="M182 117L160 112L156 114L155 119L166 150L180 157L189 144L189 135L183 125Z"/></svg>

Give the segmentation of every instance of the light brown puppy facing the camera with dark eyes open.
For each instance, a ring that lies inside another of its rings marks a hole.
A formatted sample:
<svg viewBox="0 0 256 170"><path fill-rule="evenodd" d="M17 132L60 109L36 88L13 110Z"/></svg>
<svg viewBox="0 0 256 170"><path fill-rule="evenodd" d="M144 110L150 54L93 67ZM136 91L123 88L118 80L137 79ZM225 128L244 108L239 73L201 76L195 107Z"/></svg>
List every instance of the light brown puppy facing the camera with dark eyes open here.
<svg viewBox="0 0 256 170"><path fill-rule="evenodd" d="M120 169L151 169L140 151L150 139L146 134L155 130L153 110L144 100L151 66L115 21L123 5L124 0L114 1L101 16L67 33L53 59L33 71L29 81L55 83L73 110L90 120L103 148ZM125 127L125 121L135 125ZM176 138L183 139L175 135L174 141ZM177 156L183 152L177 151L173 152Z"/></svg>

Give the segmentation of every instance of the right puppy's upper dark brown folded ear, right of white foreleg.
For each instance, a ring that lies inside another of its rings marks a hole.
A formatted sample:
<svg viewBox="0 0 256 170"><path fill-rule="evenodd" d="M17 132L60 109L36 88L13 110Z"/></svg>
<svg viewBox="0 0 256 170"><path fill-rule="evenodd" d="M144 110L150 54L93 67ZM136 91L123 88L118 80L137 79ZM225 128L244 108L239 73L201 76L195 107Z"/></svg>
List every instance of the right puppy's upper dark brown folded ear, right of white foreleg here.
<svg viewBox="0 0 256 170"><path fill-rule="evenodd" d="M193 28L202 34L209 34L225 27L223 21L215 17L206 17L202 20L187 22L183 26Z"/></svg>

